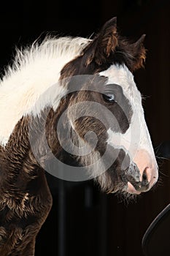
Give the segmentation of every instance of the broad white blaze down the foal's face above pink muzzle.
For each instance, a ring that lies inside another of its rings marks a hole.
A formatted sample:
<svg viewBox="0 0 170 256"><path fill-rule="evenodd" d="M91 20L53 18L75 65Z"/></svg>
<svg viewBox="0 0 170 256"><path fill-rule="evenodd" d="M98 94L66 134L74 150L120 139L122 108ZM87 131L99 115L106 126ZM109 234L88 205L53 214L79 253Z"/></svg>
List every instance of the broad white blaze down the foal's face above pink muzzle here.
<svg viewBox="0 0 170 256"><path fill-rule="evenodd" d="M107 142L115 148L123 148L125 152L128 152L131 159L134 159L137 151L144 149L149 152L153 161L156 162L150 134L144 120L142 97L136 88L132 73L125 65L112 65L104 72L100 72L99 75L106 76L108 78L108 84L115 83L122 87L123 94L129 100L133 111L130 127L125 134L113 132L112 129L108 129L109 138Z"/></svg>

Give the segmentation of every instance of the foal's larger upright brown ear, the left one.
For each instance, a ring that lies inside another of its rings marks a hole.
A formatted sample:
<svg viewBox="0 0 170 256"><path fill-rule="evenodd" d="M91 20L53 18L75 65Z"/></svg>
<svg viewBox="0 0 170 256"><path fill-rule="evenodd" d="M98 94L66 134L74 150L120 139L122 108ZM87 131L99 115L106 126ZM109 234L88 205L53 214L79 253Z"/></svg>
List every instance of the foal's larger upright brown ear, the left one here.
<svg viewBox="0 0 170 256"><path fill-rule="evenodd" d="M114 52L117 41L117 18L112 18L104 24L90 45L85 48L85 65L88 66L92 61L98 65L106 62L110 54Z"/></svg>

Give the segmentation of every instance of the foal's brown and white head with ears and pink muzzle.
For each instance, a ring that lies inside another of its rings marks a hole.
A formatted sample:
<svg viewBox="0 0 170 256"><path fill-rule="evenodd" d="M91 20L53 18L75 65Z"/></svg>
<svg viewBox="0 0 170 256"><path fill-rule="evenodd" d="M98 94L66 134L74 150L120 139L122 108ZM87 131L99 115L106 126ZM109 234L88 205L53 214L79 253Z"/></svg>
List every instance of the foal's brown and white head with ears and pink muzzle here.
<svg viewBox="0 0 170 256"><path fill-rule="evenodd" d="M69 165L68 175L63 167L63 178L95 178L106 192L130 194L146 192L158 180L142 96L133 76L145 59L143 40L144 35L128 42L117 34L112 18L61 69L66 94L55 110L59 128L57 142L50 146L58 148L55 157L62 155Z"/></svg>

